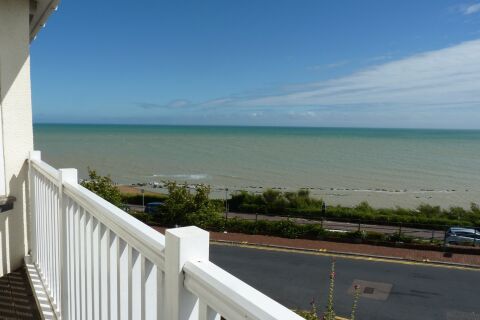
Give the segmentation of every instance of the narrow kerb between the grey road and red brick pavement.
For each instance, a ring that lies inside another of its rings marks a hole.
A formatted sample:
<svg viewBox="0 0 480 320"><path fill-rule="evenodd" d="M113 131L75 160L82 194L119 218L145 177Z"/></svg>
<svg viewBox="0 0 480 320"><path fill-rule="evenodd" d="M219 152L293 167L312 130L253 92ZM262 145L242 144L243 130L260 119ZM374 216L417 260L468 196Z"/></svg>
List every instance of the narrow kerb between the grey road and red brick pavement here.
<svg viewBox="0 0 480 320"><path fill-rule="evenodd" d="M471 268L471 269L480 270L479 265L456 263L456 262L445 262L445 261L438 261L438 260L428 260L428 259L416 260L416 259L382 256L382 255L375 255L375 254L344 252L344 251L327 250L327 249L299 248L299 247L282 246L282 245L276 245L276 244L254 243L254 242L248 242L248 241L211 240L211 242L219 243L219 244L243 245L243 246L250 246L250 247L285 249L285 250L292 250L292 251L299 251L299 252L314 252L314 253L326 253L326 254L330 253L330 254L351 256L351 257L383 259L383 260L391 260L391 261L412 262L412 263L419 263L419 264L430 264L430 265L438 265L438 266L446 266L446 267L461 267L461 268Z"/></svg>

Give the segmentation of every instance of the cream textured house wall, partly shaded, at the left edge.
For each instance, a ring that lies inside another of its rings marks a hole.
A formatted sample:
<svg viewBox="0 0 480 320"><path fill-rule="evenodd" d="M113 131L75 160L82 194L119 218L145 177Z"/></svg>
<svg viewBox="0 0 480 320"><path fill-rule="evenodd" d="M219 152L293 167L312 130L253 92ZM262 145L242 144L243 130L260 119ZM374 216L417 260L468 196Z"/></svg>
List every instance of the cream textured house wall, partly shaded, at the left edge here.
<svg viewBox="0 0 480 320"><path fill-rule="evenodd" d="M0 0L0 108L6 194L17 201L0 213L0 276L27 253L27 164L33 149L29 0ZM1 170L1 168L0 168Z"/></svg>

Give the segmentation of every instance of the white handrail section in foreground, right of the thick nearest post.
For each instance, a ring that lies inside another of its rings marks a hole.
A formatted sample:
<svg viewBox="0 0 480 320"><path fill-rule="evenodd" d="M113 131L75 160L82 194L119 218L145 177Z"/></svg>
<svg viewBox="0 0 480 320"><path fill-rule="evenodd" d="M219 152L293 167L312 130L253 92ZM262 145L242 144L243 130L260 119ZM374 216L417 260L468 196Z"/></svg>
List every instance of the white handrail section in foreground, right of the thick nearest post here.
<svg viewBox="0 0 480 320"><path fill-rule="evenodd" d="M303 320L210 261L188 261L183 270L185 287L226 319Z"/></svg>

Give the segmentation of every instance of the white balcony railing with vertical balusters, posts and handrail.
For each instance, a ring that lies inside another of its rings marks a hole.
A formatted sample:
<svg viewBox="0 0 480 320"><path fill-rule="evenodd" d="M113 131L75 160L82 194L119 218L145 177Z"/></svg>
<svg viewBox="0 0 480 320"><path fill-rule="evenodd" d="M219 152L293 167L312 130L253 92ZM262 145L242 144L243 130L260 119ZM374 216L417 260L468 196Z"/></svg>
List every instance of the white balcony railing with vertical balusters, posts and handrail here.
<svg viewBox="0 0 480 320"><path fill-rule="evenodd" d="M164 237L77 180L31 153L31 260L52 318L303 319L211 263L208 232Z"/></svg>

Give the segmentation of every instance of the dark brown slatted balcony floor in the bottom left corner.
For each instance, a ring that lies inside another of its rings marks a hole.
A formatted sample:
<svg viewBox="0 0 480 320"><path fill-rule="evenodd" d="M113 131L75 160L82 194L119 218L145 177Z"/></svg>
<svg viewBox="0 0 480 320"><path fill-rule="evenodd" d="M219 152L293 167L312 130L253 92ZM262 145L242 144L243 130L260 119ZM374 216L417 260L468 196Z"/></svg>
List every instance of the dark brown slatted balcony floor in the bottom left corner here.
<svg viewBox="0 0 480 320"><path fill-rule="evenodd" d="M25 267L0 278L0 319L40 319Z"/></svg>

